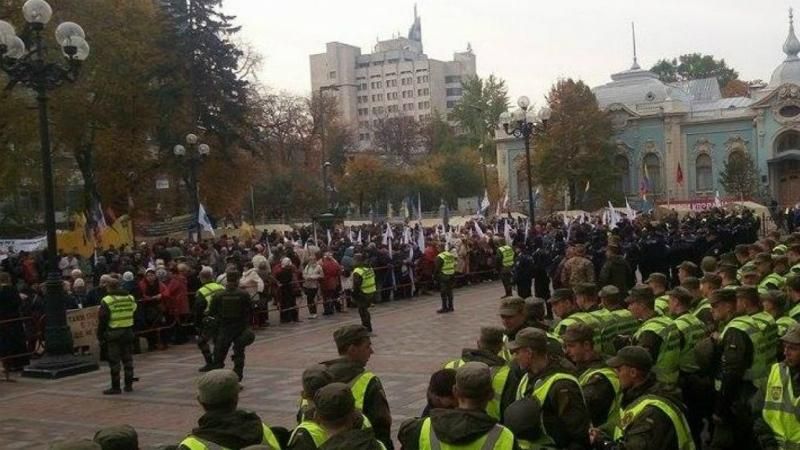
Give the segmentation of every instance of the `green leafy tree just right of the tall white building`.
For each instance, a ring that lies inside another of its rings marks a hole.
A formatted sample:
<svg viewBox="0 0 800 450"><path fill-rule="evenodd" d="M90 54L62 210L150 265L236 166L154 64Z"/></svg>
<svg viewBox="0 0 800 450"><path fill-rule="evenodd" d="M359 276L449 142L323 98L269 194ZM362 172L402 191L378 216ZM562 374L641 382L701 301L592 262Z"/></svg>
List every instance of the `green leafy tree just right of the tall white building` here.
<svg viewBox="0 0 800 450"><path fill-rule="evenodd" d="M469 77L461 85L462 97L450 113L450 118L464 131L468 145L477 147L490 143L500 114L508 110L506 82L489 75L486 79Z"/></svg>

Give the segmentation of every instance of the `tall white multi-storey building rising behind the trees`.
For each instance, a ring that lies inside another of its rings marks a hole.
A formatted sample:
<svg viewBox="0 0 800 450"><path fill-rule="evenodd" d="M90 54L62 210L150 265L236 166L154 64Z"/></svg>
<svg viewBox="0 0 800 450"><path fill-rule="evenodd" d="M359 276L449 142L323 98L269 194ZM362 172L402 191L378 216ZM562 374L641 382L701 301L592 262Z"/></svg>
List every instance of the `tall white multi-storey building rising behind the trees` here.
<svg viewBox="0 0 800 450"><path fill-rule="evenodd" d="M432 114L446 117L461 99L461 80L475 76L475 54L467 45L452 61L428 58L422 50L422 25L414 7L408 37L378 41L372 53L340 42L311 55L311 89L337 86L335 95L346 123L357 130L360 149L372 148L374 128L388 117Z"/></svg>

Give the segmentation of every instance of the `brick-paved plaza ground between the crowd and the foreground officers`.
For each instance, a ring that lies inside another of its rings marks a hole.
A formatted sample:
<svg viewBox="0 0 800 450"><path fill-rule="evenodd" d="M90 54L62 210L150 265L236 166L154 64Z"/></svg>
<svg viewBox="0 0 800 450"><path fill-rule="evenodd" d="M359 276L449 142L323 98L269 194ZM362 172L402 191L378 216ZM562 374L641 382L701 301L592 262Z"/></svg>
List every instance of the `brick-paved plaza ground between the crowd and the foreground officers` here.
<svg viewBox="0 0 800 450"><path fill-rule="evenodd" d="M427 296L381 304L372 309L376 336L371 370L382 379L397 433L400 422L425 406L430 374L473 346L481 325L499 325L499 283L456 291L456 311L438 315L439 297ZM257 332L248 347L240 406L256 411L270 425L295 424L300 375L315 362L336 357L333 331L358 323L350 310L332 318L273 325ZM194 379L202 358L193 343L137 355L135 392L106 397L108 367L61 380L17 378L0 382L0 448L41 449L65 438L91 438L104 426L130 424L142 448L180 441L202 414L195 401ZM228 362L230 365L230 362Z"/></svg>

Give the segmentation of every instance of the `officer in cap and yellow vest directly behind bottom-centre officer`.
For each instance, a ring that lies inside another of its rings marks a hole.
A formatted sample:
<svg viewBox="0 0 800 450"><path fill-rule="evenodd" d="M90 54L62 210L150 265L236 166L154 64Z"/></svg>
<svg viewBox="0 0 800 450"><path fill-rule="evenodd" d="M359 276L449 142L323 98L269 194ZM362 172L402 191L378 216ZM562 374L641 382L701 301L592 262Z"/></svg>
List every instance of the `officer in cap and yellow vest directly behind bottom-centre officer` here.
<svg viewBox="0 0 800 450"><path fill-rule="evenodd" d="M499 356L504 346L503 336L503 329L500 327L481 327L477 348L463 349L461 358L444 365L445 369L458 369L466 363L475 361L489 366L494 397L486 405L486 413L501 422L503 411L514 402L519 382L506 361Z"/></svg>

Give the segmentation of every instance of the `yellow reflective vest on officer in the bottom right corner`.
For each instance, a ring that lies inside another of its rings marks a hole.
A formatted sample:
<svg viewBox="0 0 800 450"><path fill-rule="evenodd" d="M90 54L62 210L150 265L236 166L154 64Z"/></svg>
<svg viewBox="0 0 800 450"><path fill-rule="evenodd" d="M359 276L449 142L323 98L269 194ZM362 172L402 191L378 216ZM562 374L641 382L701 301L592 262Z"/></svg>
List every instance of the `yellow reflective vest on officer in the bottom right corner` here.
<svg viewBox="0 0 800 450"><path fill-rule="evenodd" d="M772 365L764 389L761 417L769 425L778 447L800 449L800 393L792 387L789 368L784 363Z"/></svg>

